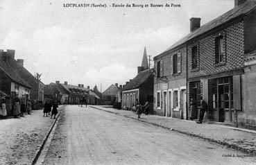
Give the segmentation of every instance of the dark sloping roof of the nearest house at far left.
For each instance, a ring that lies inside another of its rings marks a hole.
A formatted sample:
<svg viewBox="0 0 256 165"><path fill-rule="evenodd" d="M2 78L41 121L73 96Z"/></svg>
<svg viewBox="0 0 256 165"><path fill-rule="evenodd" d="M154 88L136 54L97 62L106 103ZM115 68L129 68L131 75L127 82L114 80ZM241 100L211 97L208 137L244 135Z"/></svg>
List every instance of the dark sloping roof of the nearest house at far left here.
<svg viewBox="0 0 256 165"><path fill-rule="evenodd" d="M17 71L15 71L15 69L13 69L12 67L10 67L9 64L6 64L6 62L4 62L3 60L0 59L0 69L6 73L6 75L8 77L10 77L13 81L15 81L16 83L19 83L20 85L23 85L25 87L29 87L31 88L30 85L28 85L28 83L26 83L25 80L23 80L19 74L17 73Z"/></svg>

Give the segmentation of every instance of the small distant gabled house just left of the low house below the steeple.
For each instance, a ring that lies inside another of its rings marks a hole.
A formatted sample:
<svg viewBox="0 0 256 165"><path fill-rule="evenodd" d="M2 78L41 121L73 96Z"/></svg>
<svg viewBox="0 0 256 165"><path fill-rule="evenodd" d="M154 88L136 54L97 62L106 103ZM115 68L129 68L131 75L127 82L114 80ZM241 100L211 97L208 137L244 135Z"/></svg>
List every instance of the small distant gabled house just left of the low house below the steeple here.
<svg viewBox="0 0 256 165"><path fill-rule="evenodd" d="M114 105L118 91L119 87L117 83L115 85L110 85L108 89L105 89L102 93L102 105Z"/></svg>

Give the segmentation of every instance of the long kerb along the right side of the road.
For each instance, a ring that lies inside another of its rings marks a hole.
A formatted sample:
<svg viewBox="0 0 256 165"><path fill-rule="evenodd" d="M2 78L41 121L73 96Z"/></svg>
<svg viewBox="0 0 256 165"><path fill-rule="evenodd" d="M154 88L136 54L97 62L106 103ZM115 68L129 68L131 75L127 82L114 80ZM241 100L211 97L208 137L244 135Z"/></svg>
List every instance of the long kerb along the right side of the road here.
<svg viewBox="0 0 256 165"><path fill-rule="evenodd" d="M89 106L89 107L92 107L92 106ZM99 107L92 107L92 108L95 108L97 110L103 110ZM186 132L186 131L182 131L182 130L177 130L177 129L173 129L173 128L169 128L167 126L163 126L163 125L159 125L157 123L152 123L150 121L143 121L142 119L137 119L137 118L134 118L134 117L131 117L131 116L126 116L126 115L121 115L119 114L118 112L111 112L111 111L108 111L108 110L103 110L105 112L110 112L112 114L116 114L116 115L119 115L119 116L124 116L126 118L130 118L130 119L134 119L134 120L137 120L137 121L141 121L143 123L149 123L151 125L155 125L157 127L161 127L161 128L164 128L164 129L167 129L169 131L175 131L175 132L179 132L181 134L186 134L186 135L189 135L190 137L197 137L197 138L200 138L200 139L204 139L205 141L210 141L210 142L213 142L213 143L216 143L216 144L220 144L222 146L226 146L227 148L232 148L234 150L239 150L241 151L242 153L246 153L248 155L254 155L256 156L256 150L248 150L246 148L242 148L241 146L237 146L235 144L229 144L225 141L220 141L220 140L216 140L216 139L212 139L212 138L209 138L209 137L204 137L200 134L193 134L193 133L190 133L190 132Z"/></svg>

